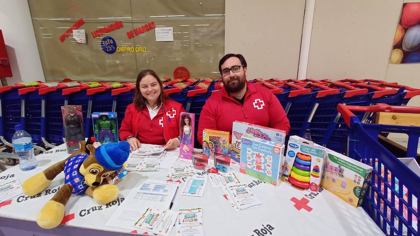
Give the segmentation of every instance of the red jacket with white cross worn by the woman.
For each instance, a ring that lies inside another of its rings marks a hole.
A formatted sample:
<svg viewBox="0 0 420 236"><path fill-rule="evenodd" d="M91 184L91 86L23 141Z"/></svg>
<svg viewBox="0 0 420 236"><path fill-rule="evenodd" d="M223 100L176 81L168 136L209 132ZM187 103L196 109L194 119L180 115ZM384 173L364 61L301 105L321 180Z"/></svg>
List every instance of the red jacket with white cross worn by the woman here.
<svg viewBox="0 0 420 236"><path fill-rule="evenodd" d="M130 104L127 106L123 122L121 122L120 139L126 140L132 135L140 143L165 145L171 138L179 136L179 114L181 112L185 112L185 110L180 103L166 100L157 115L150 119L147 108L138 110L134 104Z"/></svg>

